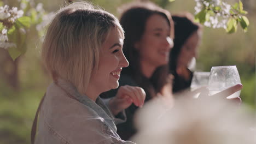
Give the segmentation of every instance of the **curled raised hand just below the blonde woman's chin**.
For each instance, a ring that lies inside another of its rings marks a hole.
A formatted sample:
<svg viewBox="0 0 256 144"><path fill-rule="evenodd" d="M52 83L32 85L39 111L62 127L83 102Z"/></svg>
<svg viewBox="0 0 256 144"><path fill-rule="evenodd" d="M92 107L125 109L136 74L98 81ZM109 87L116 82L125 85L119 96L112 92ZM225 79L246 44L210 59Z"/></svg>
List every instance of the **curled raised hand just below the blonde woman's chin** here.
<svg viewBox="0 0 256 144"><path fill-rule="evenodd" d="M144 105L146 93L141 87L121 86L118 89L117 95L109 100L109 109L113 115L117 115L124 109L127 109L132 103L138 107Z"/></svg>

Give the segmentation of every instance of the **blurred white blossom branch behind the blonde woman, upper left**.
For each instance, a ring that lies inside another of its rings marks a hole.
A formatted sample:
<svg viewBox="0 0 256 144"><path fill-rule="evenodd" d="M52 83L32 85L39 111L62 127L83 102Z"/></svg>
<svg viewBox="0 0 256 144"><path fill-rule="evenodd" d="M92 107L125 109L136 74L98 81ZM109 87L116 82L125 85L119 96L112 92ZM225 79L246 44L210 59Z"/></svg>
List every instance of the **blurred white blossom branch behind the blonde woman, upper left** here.
<svg viewBox="0 0 256 144"><path fill-rule="evenodd" d="M26 52L26 33L31 25L42 34L44 26L53 13L46 13L43 4L33 0L18 0L20 10L0 3L0 48L6 49L11 58L16 59ZM1 0L0 0L1 2Z"/></svg>

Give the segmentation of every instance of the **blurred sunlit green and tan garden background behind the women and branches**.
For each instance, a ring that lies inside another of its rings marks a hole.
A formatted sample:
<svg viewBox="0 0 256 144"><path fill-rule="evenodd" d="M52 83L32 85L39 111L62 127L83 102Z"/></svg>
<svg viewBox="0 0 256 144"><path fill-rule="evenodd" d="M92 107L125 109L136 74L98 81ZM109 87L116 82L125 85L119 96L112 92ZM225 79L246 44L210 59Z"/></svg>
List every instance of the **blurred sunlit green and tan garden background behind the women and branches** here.
<svg viewBox="0 0 256 144"><path fill-rule="evenodd" d="M31 0L32 1L32 0ZM67 1L67 0L66 0ZM10 7L20 7L18 0L4 0ZM65 5L62 0L34 0L43 3L45 11L56 11ZM90 1L119 16L117 8L130 0ZM195 12L192 0L152 0L172 14L183 11ZM229 2L227 0L227 2ZM234 2L230 0L230 2ZM256 1L242 1L248 11L250 26L244 33L240 27L234 34L224 29L203 28L203 38L196 62L197 71L210 71L212 66L236 65L243 89L241 98L251 110L255 110L256 97ZM30 143L30 130L40 98L43 97L51 79L40 61L42 40L32 26L27 33L27 52L12 61L8 52L0 49L0 144Z"/></svg>

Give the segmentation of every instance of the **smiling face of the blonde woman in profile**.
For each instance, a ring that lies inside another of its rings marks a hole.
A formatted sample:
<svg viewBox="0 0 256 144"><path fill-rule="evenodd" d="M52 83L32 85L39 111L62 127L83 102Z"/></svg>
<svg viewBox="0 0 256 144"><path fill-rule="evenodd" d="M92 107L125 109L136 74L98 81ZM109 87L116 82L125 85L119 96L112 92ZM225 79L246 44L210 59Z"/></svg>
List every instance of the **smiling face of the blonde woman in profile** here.
<svg viewBox="0 0 256 144"><path fill-rule="evenodd" d="M90 84L96 91L106 92L119 86L119 77L123 67L129 62L123 53L124 39L118 29L112 28L102 44L98 69L92 72Z"/></svg>

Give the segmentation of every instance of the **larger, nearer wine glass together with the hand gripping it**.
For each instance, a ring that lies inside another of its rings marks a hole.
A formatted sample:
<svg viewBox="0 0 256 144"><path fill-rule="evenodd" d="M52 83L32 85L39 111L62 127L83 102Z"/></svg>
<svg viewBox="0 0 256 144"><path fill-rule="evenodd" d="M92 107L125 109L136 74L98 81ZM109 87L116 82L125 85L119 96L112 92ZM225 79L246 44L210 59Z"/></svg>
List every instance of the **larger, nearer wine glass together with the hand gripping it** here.
<svg viewBox="0 0 256 144"><path fill-rule="evenodd" d="M212 67L208 87L201 89L199 98L220 98L241 104L242 87L236 66Z"/></svg>

